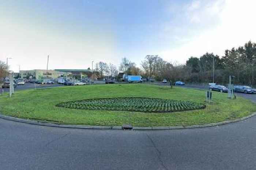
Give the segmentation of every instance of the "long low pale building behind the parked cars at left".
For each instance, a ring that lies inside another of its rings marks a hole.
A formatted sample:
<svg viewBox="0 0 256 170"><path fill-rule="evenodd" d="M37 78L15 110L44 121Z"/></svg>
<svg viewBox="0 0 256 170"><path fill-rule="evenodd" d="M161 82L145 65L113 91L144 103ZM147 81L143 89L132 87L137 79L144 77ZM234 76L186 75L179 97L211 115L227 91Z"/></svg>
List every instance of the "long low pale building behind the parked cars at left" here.
<svg viewBox="0 0 256 170"><path fill-rule="evenodd" d="M98 71L94 74L99 75ZM34 69L34 70L20 70L20 78L23 79L57 79L60 77L71 79L90 78L92 71L90 69Z"/></svg>

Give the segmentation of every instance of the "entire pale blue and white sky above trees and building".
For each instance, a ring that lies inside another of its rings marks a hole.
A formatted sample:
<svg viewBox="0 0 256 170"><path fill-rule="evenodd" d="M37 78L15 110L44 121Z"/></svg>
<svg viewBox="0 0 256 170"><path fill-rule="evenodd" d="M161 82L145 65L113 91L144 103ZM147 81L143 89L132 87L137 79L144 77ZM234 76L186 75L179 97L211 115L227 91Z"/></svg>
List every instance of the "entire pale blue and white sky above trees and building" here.
<svg viewBox="0 0 256 170"><path fill-rule="evenodd" d="M254 0L1 0L0 60L11 69L87 68L91 61L140 67L147 54L190 56L255 41ZM237 20L242 20L241 23ZM250 27L246 27L250 25ZM236 35L236 36L234 36Z"/></svg>

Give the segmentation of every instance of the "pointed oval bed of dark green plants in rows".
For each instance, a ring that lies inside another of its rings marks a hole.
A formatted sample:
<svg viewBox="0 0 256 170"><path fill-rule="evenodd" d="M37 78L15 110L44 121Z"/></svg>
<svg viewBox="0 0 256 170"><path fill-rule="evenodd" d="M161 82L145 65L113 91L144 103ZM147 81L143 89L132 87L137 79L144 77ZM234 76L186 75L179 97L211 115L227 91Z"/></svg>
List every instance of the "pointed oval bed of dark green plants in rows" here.
<svg viewBox="0 0 256 170"><path fill-rule="evenodd" d="M179 101L156 98L105 98L86 99L59 103L56 106L70 109L88 110L119 110L132 112L179 112L186 110L204 109L206 106L192 101Z"/></svg>

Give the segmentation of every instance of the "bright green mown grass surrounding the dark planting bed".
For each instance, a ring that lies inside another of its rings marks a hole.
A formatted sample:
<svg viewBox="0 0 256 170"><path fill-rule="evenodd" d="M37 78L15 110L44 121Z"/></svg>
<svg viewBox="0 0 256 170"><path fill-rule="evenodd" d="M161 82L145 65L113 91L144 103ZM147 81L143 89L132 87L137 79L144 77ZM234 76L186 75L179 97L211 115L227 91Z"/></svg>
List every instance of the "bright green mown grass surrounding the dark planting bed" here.
<svg viewBox="0 0 256 170"><path fill-rule="evenodd" d="M143 113L110 110L79 110L56 107L58 103L117 97L148 97L194 101L206 105L206 109L172 113ZM60 124L178 126L197 125L244 117L256 111L251 101L227 94L213 92L213 102L204 102L205 91L181 87L146 84L107 84L75 87L56 87L16 91L12 98L6 93L0 96L0 112L4 115L34 120L46 120Z"/></svg>

